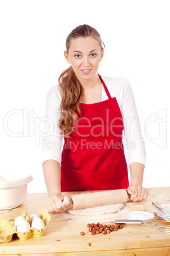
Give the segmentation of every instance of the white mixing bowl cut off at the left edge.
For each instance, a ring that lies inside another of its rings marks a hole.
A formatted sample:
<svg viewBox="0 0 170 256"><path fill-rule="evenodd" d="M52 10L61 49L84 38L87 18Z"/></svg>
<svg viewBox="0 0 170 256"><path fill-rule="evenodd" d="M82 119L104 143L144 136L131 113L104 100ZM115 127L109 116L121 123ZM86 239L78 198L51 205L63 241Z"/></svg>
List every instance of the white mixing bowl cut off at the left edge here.
<svg viewBox="0 0 170 256"><path fill-rule="evenodd" d="M0 170L0 210L20 206L27 197L27 183L32 176L24 171Z"/></svg>

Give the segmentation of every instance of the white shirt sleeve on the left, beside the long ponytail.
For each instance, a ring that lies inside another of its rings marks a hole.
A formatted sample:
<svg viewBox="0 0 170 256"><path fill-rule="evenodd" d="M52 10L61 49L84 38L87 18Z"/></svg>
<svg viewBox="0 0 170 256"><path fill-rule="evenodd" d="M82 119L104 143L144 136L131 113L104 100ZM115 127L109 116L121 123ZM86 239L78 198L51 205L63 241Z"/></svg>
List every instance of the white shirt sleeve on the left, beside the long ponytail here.
<svg viewBox="0 0 170 256"><path fill-rule="evenodd" d="M60 120L61 95L59 86L49 89L46 98L46 115L44 117L44 132L42 138L42 163L46 160L57 160L61 164L63 134L58 128Z"/></svg>

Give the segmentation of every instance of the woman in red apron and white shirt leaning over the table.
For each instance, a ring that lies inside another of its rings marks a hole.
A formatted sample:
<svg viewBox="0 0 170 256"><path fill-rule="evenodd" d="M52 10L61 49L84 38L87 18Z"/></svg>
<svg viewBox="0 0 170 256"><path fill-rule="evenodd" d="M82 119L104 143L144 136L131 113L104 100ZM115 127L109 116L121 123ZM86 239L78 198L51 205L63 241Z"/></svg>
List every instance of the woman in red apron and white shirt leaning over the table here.
<svg viewBox="0 0 170 256"><path fill-rule="evenodd" d="M133 92L123 78L98 75L104 47L96 29L76 27L67 37L64 52L71 66L48 93L46 118L55 125L51 132L46 122L42 140L48 190L44 209L49 213L57 213L68 204L61 193L64 191L128 188L134 202L148 196L148 189L142 187L145 146Z"/></svg>

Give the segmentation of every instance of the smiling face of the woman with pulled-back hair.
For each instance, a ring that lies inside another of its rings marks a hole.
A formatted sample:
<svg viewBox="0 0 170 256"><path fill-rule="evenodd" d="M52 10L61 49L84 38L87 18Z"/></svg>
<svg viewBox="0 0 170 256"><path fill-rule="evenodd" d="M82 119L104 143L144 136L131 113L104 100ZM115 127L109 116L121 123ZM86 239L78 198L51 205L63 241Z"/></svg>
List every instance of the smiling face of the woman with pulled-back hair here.
<svg viewBox="0 0 170 256"><path fill-rule="evenodd" d="M79 80L93 78L98 74L98 66L103 59L103 52L98 41L90 36L75 38L70 42L65 59L72 65Z"/></svg>

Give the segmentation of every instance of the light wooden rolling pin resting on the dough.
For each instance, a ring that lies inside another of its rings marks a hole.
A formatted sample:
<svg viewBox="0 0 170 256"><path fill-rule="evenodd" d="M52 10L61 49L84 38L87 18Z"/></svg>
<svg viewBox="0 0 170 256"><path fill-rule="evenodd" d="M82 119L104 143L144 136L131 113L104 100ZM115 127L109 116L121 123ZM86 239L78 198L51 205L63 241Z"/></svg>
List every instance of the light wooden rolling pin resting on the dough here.
<svg viewBox="0 0 170 256"><path fill-rule="evenodd" d="M126 189L84 193L71 196L69 207L73 210L79 210L107 204L126 203L130 196Z"/></svg>

